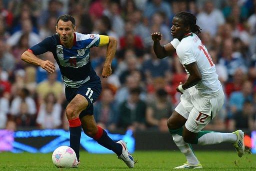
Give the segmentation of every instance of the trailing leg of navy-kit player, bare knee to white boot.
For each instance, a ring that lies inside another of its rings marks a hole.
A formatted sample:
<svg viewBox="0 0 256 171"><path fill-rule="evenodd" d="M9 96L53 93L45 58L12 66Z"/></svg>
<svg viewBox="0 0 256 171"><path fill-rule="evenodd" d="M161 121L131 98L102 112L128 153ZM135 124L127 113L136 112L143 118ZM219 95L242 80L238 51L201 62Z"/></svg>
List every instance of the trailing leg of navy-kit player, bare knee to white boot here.
<svg viewBox="0 0 256 171"><path fill-rule="evenodd" d="M107 133L96 125L93 115L83 116L81 122L82 129L87 136L93 138L101 146L113 151L129 168L134 167L133 158L129 155L125 142L121 140L116 143L110 139Z"/></svg>

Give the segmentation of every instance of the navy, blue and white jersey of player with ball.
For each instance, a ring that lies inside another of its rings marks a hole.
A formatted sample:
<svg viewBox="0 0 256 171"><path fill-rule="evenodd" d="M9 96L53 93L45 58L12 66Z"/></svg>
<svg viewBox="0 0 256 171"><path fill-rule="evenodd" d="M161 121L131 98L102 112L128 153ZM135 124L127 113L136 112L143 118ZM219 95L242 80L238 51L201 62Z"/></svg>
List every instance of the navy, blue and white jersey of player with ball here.
<svg viewBox="0 0 256 171"><path fill-rule="evenodd" d="M59 36L54 34L32 46L30 50L34 55L52 52L59 65L64 84L71 88L78 88L88 80L98 79L89 61L89 49L98 46L99 39L99 34L75 32L74 44L71 49L68 49L61 45Z"/></svg>

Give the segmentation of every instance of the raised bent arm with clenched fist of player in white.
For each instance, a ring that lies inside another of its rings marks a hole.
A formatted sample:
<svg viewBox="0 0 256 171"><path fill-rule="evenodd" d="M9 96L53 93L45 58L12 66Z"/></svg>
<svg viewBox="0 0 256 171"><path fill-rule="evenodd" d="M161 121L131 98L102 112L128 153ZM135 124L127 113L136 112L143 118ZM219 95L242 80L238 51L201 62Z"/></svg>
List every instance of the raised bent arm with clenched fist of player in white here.
<svg viewBox="0 0 256 171"><path fill-rule="evenodd" d="M153 40L153 49L154 53L157 56L157 58L161 59L166 56L170 56L173 52L175 52L175 48L171 43L168 43L164 46L160 45L161 40L161 33L160 32L154 32L151 34L151 38Z"/></svg>

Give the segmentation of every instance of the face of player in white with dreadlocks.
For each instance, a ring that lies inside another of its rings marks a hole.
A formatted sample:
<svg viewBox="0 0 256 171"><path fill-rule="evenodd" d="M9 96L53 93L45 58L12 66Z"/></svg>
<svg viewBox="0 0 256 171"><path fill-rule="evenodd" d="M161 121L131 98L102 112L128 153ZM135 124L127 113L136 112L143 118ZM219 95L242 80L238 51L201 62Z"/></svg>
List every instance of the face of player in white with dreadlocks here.
<svg viewBox="0 0 256 171"><path fill-rule="evenodd" d="M178 17L173 17L170 30L172 37L179 40L181 40L182 37L189 32L188 27L185 26L182 22L182 19Z"/></svg>

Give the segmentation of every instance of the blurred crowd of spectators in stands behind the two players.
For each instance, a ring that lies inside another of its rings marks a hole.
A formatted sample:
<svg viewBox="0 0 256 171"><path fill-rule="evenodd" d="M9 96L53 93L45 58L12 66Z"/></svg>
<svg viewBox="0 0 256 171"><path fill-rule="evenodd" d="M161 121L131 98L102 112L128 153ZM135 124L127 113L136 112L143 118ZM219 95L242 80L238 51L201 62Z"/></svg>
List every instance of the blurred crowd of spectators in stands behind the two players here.
<svg viewBox="0 0 256 171"><path fill-rule="evenodd" d="M97 124L110 131L168 131L166 120L180 97L175 87L187 77L175 53L156 58L150 34L160 31L160 43L170 42L172 18L183 10L196 15L225 92L207 129L255 130L256 0L0 0L0 129L68 129L59 69L48 74L20 60L26 49L55 34L57 17L68 13L77 32L118 40L112 75L101 78L94 103ZM91 48L99 76L105 52ZM56 63L49 52L39 57Z"/></svg>

